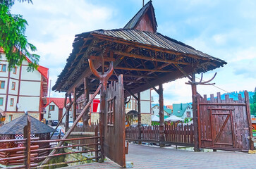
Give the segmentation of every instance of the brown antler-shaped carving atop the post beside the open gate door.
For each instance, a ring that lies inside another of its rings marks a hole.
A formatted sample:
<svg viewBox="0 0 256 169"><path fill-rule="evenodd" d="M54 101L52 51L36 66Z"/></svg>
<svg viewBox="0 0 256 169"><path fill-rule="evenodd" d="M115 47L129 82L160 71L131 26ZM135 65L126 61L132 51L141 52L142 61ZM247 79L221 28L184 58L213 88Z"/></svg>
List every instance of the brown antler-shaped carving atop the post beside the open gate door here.
<svg viewBox="0 0 256 169"><path fill-rule="evenodd" d="M97 69L95 68L95 65L93 64L92 59L88 59L90 69L92 70L93 75L99 78L99 81L103 84L104 89L106 89L107 80L114 72L114 64L113 61L110 62L109 70L107 70L104 73L99 73ZM104 70L104 63L102 63L102 70Z"/></svg>

